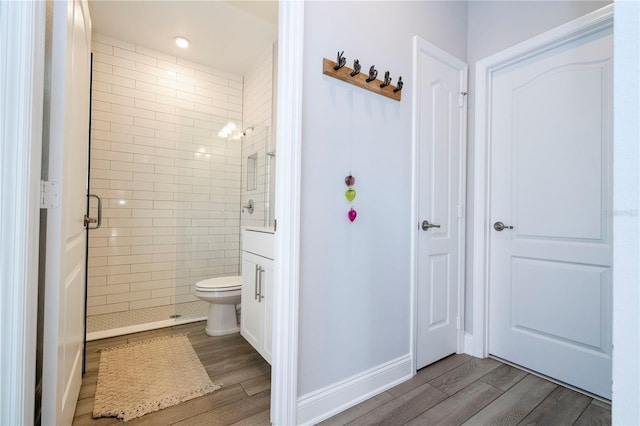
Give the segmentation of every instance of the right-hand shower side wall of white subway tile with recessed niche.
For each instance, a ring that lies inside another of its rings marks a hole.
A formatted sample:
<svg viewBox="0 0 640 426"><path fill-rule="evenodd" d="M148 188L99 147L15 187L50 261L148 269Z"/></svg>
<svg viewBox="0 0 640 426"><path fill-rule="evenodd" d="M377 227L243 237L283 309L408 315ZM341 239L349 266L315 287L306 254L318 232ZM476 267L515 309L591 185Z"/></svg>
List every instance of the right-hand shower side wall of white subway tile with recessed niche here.
<svg viewBox="0 0 640 426"><path fill-rule="evenodd" d="M253 214L242 213L242 226L265 226L269 212L269 162L273 157L267 155L275 149L272 140L272 87L273 87L273 50L268 49L257 61L252 71L244 79L243 118L246 136L243 138L242 203L250 199L254 202ZM247 157L256 155L256 188L247 189ZM274 170L271 171L275 179Z"/></svg>

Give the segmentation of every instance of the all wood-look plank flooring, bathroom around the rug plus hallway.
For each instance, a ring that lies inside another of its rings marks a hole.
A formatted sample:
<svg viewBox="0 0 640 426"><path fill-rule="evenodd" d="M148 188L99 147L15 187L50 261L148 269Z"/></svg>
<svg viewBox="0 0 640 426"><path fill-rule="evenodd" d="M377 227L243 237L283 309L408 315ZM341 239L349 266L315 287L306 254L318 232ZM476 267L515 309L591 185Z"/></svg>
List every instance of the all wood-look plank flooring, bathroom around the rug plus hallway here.
<svg viewBox="0 0 640 426"><path fill-rule="evenodd" d="M120 423L91 416L100 348L172 333L189 333L209 376L223 387L127 424L269 425L269 364L239 334L207 336L204 322L90 342L73 425ZM452 355L321 423L345 424L610 425L611 407L494 359Z"/></svg>

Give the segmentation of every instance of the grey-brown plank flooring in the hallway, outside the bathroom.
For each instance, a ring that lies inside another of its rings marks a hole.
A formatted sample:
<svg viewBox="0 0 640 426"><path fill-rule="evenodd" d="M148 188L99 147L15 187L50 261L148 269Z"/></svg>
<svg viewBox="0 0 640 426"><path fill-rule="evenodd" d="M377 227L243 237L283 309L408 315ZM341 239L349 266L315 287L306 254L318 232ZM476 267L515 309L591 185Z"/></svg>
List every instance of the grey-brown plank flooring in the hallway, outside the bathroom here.
<svg viewBox="0 0 640 426"><path fill-rule="evenodd" d="M611 407L494 359L451 355L320 424L610 425Z"/></svg>

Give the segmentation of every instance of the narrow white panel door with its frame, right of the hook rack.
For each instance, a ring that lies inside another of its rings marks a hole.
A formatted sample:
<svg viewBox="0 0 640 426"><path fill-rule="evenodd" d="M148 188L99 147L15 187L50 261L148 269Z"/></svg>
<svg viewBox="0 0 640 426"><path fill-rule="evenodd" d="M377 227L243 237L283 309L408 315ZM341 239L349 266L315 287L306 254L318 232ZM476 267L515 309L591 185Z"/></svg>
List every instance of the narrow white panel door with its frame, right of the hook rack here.
<svg viewBox="0 0 640 426"><path fill-rule="evenodd" d="M415 39L416 367L458 351L467 66Z"/></svg>

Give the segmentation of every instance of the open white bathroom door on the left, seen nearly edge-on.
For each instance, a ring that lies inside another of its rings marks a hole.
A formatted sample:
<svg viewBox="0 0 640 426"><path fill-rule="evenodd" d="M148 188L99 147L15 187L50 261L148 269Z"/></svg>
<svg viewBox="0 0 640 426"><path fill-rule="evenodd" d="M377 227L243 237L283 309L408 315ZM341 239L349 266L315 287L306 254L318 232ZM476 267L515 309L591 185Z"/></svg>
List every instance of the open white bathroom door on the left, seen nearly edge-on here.
<svg viewBox="0 0 640 426"><path fill-rule="evenodd" d="M53 2L42 423L70 425L82 381L91 20L85 1Z"/></svg>

